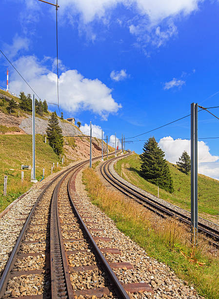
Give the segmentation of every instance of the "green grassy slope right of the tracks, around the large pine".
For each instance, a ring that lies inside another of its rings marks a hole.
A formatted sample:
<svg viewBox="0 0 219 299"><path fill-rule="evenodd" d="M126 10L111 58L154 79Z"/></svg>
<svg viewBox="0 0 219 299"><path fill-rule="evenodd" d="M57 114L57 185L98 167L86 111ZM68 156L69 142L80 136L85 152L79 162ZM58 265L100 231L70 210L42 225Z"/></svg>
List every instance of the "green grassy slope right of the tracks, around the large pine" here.
<svg viewBox="0 0 219 299"><path fill-rule="evenodd" d="M137 159L136 159L137 157ZM178 167L169 163L170 171L174 181L174 193L170 194L159 189L160 198L176 204L190 211L190 175L179 171ZM158 195L158 187L147 182L139 175L140 158L139 155L132 155L127 159L117 162L116 170L122 177L139 188ZM199 214L217 215L219 211L219 181L205 175L199 174ZM210 200L209 200L210 199Z"/></svg>

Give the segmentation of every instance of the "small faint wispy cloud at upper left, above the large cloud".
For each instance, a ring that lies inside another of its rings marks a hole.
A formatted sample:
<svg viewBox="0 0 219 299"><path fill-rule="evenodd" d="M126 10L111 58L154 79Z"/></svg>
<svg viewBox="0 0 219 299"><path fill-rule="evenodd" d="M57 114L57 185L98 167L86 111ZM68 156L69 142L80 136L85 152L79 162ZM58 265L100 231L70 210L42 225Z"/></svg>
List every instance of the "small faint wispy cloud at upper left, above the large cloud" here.
<svg viewBox="0 0 219 299"><path fill-rule="evenodd" d="M14 58L21 50L28 50L30 40L28 38L20 37L16 34L13 38L12 44L3 44L5 55L10 59Z"/></svg>

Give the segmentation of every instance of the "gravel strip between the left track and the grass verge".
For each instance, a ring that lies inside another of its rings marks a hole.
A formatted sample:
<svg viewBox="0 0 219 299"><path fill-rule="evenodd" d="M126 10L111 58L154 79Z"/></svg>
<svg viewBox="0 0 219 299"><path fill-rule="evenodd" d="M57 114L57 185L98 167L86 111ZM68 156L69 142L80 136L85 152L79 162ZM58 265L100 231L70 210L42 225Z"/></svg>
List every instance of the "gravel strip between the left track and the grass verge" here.
<svg viewBox="0 0 219 299"><path fill-rule="evenodd" d="M96 228L103 230L102 236L107 236L111 239L111 241L107 243L97 241L97 244L100 247L118 248L120 250L121 255L104 253L109 262L125 261L134 267L134 269L123 267L122 269L115 270L119 280L124 283L145 282L154 290L154 294L147 292L130 294L130 298L203 298L197 295L193 286L189 287L185 282L177 278L175 273L168 266L147 256L147 253L138 244L116 228L112 219L91 203L82 184L81 175L82 173L80 171L76 179L76 190L77 193L80 194L83 207L98 220ZM94 222L93 219L92 222ZM95 225L92 224L92 227L94 226ZM86 246L84 246L84 248L86 249ZM69 250L76 250L76 248Z"/></svg>

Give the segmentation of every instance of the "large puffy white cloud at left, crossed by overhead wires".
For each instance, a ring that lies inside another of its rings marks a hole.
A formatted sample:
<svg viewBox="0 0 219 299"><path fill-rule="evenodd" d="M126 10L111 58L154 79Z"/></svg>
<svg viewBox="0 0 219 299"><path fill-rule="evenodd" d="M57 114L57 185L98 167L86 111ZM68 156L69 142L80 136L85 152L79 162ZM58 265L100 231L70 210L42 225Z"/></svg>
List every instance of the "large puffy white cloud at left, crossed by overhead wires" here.
<svg viewBox="0 0 219 299"><path fill-rule="evenodd" d="M21 57L15 65L26 81L47 102L57 103L57 75L45 67L35 56ZM52 66L51 66L52 67ZM16 72L11 74L11 90L30 92L29 87ZM84 78L77 70L67 70L59 78L60 107L69 112L90 110L106 120L109 113L116 113L121 105L112 97L112 90L99 79Z"/></svg>

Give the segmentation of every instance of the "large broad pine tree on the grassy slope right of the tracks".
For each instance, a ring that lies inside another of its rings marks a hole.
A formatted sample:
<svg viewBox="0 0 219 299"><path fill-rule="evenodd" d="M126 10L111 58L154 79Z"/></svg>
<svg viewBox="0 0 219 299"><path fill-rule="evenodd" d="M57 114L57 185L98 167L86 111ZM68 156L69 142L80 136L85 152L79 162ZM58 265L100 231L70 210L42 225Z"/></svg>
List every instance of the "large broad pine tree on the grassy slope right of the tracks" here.
<svg viewBox="0 0 219 299"><path fill-rule="evenodd" d="M155 137L151 137L145 142L143 153L140 155L140 158L141 175L147 181L172 193L174 189L169 166L164 159L164 152L159 148Z"/></svg>

